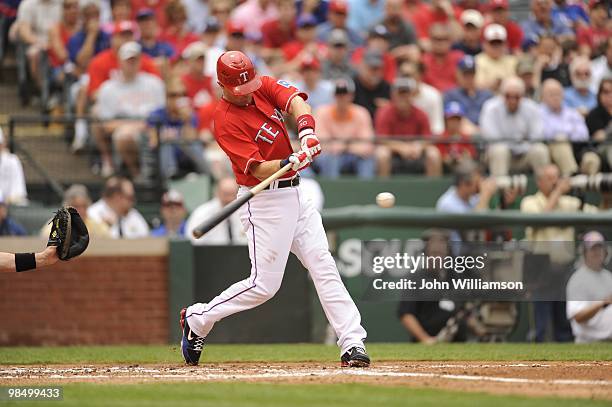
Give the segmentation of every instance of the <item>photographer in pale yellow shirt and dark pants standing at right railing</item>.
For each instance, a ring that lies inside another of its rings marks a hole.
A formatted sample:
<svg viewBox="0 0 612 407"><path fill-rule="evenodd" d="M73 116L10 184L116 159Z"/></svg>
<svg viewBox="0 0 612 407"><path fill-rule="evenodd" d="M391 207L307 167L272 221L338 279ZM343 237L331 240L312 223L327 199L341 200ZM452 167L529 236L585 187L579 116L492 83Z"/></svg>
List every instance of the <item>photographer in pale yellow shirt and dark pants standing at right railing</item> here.
<svg viewBox="0 0 612 407"><path fill-rule="evenodd" d="M560 178L559 168L554 164L544 165L536 171L536 183L538 192L523 198L521 212L580 212L591 208L587 205L583 207L580 199L567 195L571 190L570 179ZM549 255L550 271L558 273L557 282L564 281L574 260L574 228L528 227L525 230L525 239L534 242L534 253ZM551 281L551 284L553 283L554 281ZM565 302L535 302L534 314L536 342L544 341L550 319L553 321L553 336L556 341L572 340L571 329L565 318Z"/></svg>

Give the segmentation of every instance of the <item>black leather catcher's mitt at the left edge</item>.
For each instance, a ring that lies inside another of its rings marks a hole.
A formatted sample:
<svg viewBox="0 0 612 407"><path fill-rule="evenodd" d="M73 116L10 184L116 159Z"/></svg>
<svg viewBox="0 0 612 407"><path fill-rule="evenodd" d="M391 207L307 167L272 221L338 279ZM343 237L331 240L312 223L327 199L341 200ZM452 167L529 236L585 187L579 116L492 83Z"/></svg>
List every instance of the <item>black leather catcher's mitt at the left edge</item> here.
<svg viewBox="0 0 612 407"><path fill-rule="evenodd" d="M57 257L70 260L83 253L88 245L89 232L77 210L64 206L55 212L47 246L57 246Z"/></svg>

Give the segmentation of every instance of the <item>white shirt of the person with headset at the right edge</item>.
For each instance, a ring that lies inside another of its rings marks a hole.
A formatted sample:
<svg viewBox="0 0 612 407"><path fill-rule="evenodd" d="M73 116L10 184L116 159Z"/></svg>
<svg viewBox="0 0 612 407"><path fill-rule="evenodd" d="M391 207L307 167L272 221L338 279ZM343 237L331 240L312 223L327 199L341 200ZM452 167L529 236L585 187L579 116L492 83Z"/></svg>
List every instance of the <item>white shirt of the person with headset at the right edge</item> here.
<svg viewBox="0 0 612 407"><path fill-rule="evenodd" d="M608 305L586 322L574 319L577 313L596 301L612 296L612 272L604 269L593 271L582 265L572 274L566 287L567 318L572 325L576 342L612 340L612 306Z"/></svg>

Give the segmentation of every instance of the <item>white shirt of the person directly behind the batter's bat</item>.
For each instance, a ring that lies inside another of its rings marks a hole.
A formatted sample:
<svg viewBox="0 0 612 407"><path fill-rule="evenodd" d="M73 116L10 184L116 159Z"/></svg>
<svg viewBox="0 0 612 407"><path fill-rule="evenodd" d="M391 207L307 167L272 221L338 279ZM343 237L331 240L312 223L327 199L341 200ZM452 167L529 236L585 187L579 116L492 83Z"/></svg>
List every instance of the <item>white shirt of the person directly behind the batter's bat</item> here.
<svg viewBox="0 0 612 407"><path fill-rule="evenodd" d="M232 242L233 245L246 244L246 235L242 222L240 221L240 215L238 211L234 212L229 218L215 226L210 232L207 232L204 236L199 239L193 237L193 230L200 225L202 222L211 218L214 214L221 210L221 202L218 198L213 198L210 201L203 203L198 206L189 219L187 219L187 225L185 232L191 243L197 246L205 245L228 245L230 244L229 228L232 230Z"/></svg>

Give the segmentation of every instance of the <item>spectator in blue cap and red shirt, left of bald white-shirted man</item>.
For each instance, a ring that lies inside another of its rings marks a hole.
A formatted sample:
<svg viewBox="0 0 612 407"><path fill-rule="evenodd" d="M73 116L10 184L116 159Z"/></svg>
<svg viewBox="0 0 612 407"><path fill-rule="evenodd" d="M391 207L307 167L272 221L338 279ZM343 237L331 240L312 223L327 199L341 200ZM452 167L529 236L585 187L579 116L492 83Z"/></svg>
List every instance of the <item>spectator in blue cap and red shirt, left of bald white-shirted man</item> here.
<svg viewBox="0 0 612 407"><path fill-rule="evenodd" d="M462 125L465 111L459 102L449 102L444 107L443 143L436 145L447 169L459 162L476 158L476 148L470 143L471 134Z"/></svg>

